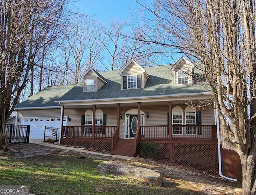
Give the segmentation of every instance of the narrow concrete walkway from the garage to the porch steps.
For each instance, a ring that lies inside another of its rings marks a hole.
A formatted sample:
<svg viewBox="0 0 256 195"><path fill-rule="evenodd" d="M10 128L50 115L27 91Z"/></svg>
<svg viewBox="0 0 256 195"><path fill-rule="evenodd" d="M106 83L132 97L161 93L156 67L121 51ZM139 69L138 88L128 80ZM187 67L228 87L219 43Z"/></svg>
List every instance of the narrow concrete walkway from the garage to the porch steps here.
<svg viewBox="0 0 256 195"><path fill-rule="evenodd" d="M80 149L80 148L50 144L50 143L44 142L44 139L29 139L29 143L44 145L44 146L48 146L48 147L55 147L55 148L59 148L59 149L73 150L73 151L77 151L77 152L81 152L81 153L89 153L89 154L102 155L102 156L108 156L108 157L116 157L116 158L125 159L125 160L130 160L130 159L134 158L134 157L129 157L129 156L104 154L104 153L88 151L88 150L84 150L84 149Z"/></svg>

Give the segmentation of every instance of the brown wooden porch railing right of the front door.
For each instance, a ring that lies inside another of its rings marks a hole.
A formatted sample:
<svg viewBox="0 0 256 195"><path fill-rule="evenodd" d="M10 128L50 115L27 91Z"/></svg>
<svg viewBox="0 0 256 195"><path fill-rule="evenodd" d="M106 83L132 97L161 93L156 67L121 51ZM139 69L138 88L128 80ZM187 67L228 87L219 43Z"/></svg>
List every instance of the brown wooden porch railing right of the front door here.
<svg viewBox="0 0 256 195"><path fill-rule="evenodd" d="M169 139L168 125L141 126L142 139ZM216 125L173 125L172 139L217 139Z"/></svg>

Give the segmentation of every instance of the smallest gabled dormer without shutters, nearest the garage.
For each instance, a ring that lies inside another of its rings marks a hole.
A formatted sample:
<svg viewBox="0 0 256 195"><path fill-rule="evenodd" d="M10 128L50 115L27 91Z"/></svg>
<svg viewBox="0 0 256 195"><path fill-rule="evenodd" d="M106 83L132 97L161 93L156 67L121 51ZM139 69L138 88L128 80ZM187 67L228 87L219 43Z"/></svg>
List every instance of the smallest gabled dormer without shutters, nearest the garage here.
<svg viewBox="0 0 256 195"><path fill-rule="evenodd" d="M82 75L84 79L84 92L97 92L104 84L106 80L96 70L89 68Z"/></svg>

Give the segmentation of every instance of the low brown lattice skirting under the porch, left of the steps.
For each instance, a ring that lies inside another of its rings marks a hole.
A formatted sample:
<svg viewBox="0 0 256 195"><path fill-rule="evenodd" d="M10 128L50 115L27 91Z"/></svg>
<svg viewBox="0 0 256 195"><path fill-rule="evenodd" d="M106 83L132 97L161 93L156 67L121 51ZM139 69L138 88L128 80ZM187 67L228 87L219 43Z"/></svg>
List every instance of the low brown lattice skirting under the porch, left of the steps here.
<svg viewBox="0 0 256 195"><path fill-rule="evenodd" d="M93 147L96 150L111 150L111 139L90 139L90 138L62 138L61 144L74 145L84 148Z"/></svg>

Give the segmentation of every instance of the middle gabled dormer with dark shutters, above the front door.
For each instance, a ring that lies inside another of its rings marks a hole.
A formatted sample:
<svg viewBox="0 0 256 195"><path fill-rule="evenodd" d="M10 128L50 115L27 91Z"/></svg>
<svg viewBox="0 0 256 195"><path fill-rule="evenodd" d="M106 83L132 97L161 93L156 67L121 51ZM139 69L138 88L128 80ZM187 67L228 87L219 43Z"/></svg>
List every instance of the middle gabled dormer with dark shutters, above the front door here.
<svg viewBox="0 0 256 195"><path fill-rule="evenodd" d="M148 74L134 60L128 62L118 73L121 76L121 90L144 88Z"/></svg>

